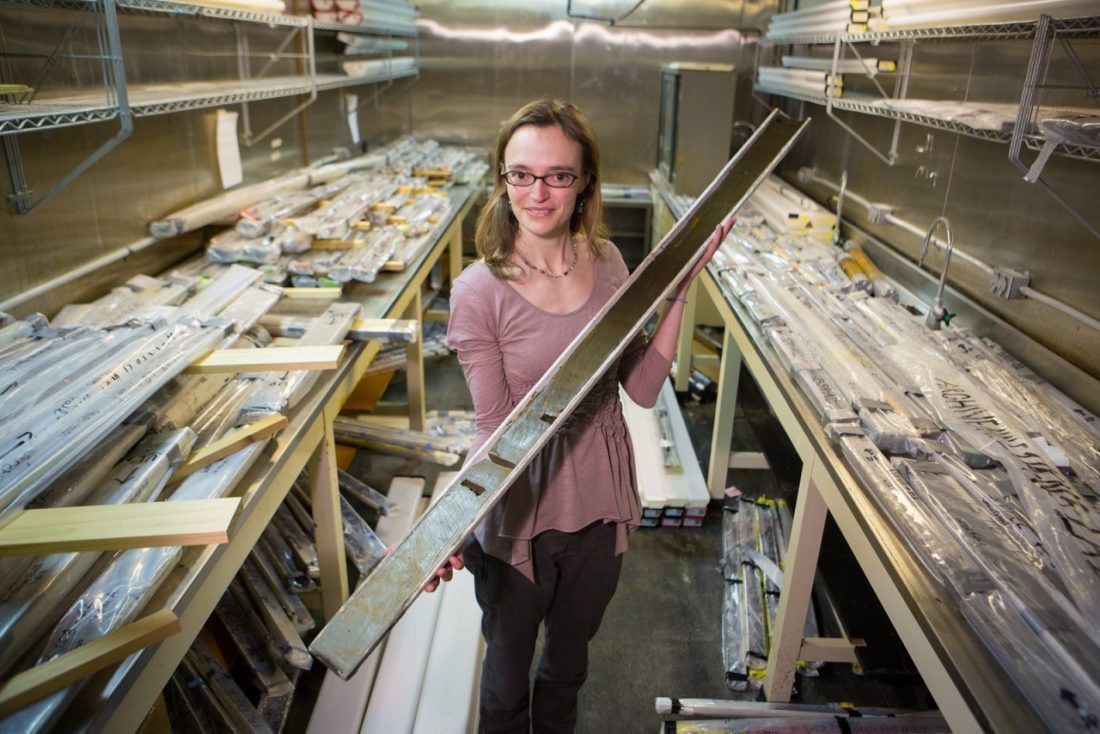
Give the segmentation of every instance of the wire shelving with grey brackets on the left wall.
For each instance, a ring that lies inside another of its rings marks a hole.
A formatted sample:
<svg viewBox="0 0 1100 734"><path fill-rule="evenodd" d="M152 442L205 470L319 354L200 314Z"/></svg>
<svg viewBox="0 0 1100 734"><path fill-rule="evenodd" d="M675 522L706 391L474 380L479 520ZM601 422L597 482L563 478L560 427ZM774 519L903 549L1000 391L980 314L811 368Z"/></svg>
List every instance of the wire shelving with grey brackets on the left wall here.
<svg viewBox="0 0 1100 734"><path fill-rule="evenodd" d="M69 31L84 21L85 13L91 12L95 14L97 22L99 50L98 54L89 55L86 59L99 61L105 65L105 85L100 92L79 94L36 101L33 97L36 94L35 90L22 101L0 102L0 136L4 139L9 173L14 189L11 199L20 213L28 213L50 199L54 194L87 171L94 163L101 160L114 147L118 147L123 140L130 136L133 130L132 119L134 117L184 112L223 105L242 105L244 106L245 122L243 139L245 144L254 144L279 124L286 122L294 114L312 103L320 91L413 77L418 74L419 67L419 59L417 57L411 68L383 69L376 74L366 76L319 75L316 72L315 45L318 32L416 39L416 28L410 25L346 25L342 23L318 22L310 17L252 12L187 2L172 2L170 0L88 0L86 2L81 0L0 0L0 6L75 11L78 15L74 19ZM238 68L241 78L227 81L201 81L183 85L128 85L122 63L123 51L119 34L119 12L210 19L233 23L234 29L237 29ZM297 58L304 73L296 76L265 77L264 73L271 66L271 63L268 63L257 76L252 76L248 69L245 58L248 40L246 35L241 31L242 24L255 28L286 29L287 36L280 44L279 51L273 56ZM47 69L56 63L67 41L67 36L68 33L65 34L65 39L63 39L62 43L58 44L52 56L46 61L45 66ZM304 53L283 53L283 50L294 41L295 36L300 39ZM419 50L417 47L418 53ZM0 57L2 56L3 53L0 50ZM298 95L308 95L309 98L290 112L284 114L266 130L257 134L252 133L248 124L249 102ZM20 132L66 128L110 120L120 121L118 133L66 176L62 177L44 195L32 201L32 195L23 175L22 157L19 153L18 143L12 135Z"/></svg>

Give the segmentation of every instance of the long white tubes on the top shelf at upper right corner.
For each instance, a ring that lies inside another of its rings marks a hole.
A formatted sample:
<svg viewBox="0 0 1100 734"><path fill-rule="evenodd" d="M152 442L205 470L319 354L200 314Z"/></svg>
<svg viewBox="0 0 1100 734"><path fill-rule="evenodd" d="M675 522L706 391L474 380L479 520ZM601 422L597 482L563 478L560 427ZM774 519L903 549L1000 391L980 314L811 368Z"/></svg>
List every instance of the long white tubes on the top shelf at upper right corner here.
<svg viewBox="0 0 1100 734"><path fill-rule="evenodd" d="M891 31L1096 15L1094 0L882 0L882 21Z"/></svg>

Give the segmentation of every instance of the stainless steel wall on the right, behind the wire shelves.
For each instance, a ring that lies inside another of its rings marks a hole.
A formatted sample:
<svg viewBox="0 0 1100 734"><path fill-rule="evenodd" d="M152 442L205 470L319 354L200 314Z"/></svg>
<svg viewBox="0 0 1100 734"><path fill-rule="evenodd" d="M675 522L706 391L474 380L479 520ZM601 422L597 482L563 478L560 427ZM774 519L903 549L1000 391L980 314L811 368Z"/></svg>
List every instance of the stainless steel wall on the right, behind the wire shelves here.
<svg viewBox="0 0 1100 734"><path fill-rule="evenodd" d="M1087 68L1100 68L1100 44L1077 42ZM897 52L897 44L875 50L879 56ZM832 47L810 53L831 55ZM1018 102L1031 41L956 41L916 43L910 98ZM1056 50L1047 81L1074 81L1065 57ZM846 77L846 81L851 77ZM889 83L889 77L880 77ZM857 86L858 85L858 86ZM866 81L851 88L873 94ZM888 89L891 87L888 86ZM1089 107L1080 91L1048 90L1044 103ZM813 166L831 180L848 172L849 189L894 207L894 213L922 229L946 216L955 245L992 265L1026 271L1032 287L1085 314L1100 318L1100 241L1038 186L1023 180L1009 162L1007 144L903 123L899 160L888 166L825 116L822 107L783 103L792 113L814 118L811 132L784 161L782 174L796 182L801 166ZM870 140L878 150L890 147L892 121L855 113L842 120ZM1024 151L1024 160L1034 153ZM1055 156L1044 178L1096 227L1100 191L1100 164ZM826 202L832 191L811 186L810 193ZM889 224L872 224L866 211L846 206L845 218L886 242L904 259L915 261L921 238ZM942 237L942 232L938 233ZM925 269L938 276L943 258L933 252ZM953 259L948 284L1011 326L1038 341L1094 379L1100 379L1100 333L1031 299L1005 300L989 289L989 277L961 259ZM925 294L933 288L926 284ZM948 295L948 307L950 296ZM1044 369L1043 358L1034 366Z"/></svg>

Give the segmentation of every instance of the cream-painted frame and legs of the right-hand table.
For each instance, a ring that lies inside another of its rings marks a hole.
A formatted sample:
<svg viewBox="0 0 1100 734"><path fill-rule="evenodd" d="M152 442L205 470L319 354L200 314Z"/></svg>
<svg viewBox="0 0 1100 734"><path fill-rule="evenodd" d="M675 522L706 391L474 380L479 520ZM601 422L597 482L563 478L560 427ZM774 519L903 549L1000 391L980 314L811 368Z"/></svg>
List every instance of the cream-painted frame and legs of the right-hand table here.
<svg viewBox="0 0 1100 734"><path fill-rule="evenodd" d="M674 222L683 215L682 201L656 172L650 178L654 223ZM920 303L908 294L903 299ZM683 335L693 333L697 314L710 306L717 310L724 327L707 464L711 496L723 496L727 471L734 468L734 415L743 365L802 460L780 612L768 656L767 700L790 700L800 659L838 653L835 646L803 637L825 518L832 516L953 732L1049 731L958 610L944 603L937 582L853 476L814 408L741 304L726 297L712 269L692 285L688 304L675 360L675 377L682 377L685 386L686 374L698 358L692 355L690 336L684 339Z"/></svg>

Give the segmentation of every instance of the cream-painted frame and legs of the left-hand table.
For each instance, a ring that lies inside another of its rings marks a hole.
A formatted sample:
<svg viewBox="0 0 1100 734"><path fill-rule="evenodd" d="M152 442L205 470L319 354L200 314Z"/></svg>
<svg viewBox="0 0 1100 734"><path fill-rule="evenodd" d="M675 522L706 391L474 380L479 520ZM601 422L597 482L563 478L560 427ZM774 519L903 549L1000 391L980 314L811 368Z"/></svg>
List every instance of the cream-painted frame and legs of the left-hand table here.
<svg viewBox="0 0 1100 734"><path fill-rule="evenodd" d="M425 251L400 274L383 275L371 284L344 287L343 300L363 305L363 318L426 318L421 292L437 264L447 264L451 277L462 269L462 229L479 198L481 183L451 189L448 219ZM271 440L241 480L233 496L241 505L229 530L229 543L184 549L176 569L147 609L168 609L182 632L144 648L114 669L90 678L58 723L58 731L135 732L172 672L206 623L215 604L255 545L264 526L302 472L309 472L321 565L324 617L330 618L348 598L343 533L338 507L333 419L350 397L381 348L380 342L352 343L340 366L324 373L289 414L289 425ZM419 340L407 348L410 425L422 425L424 366Z"/></svg>

